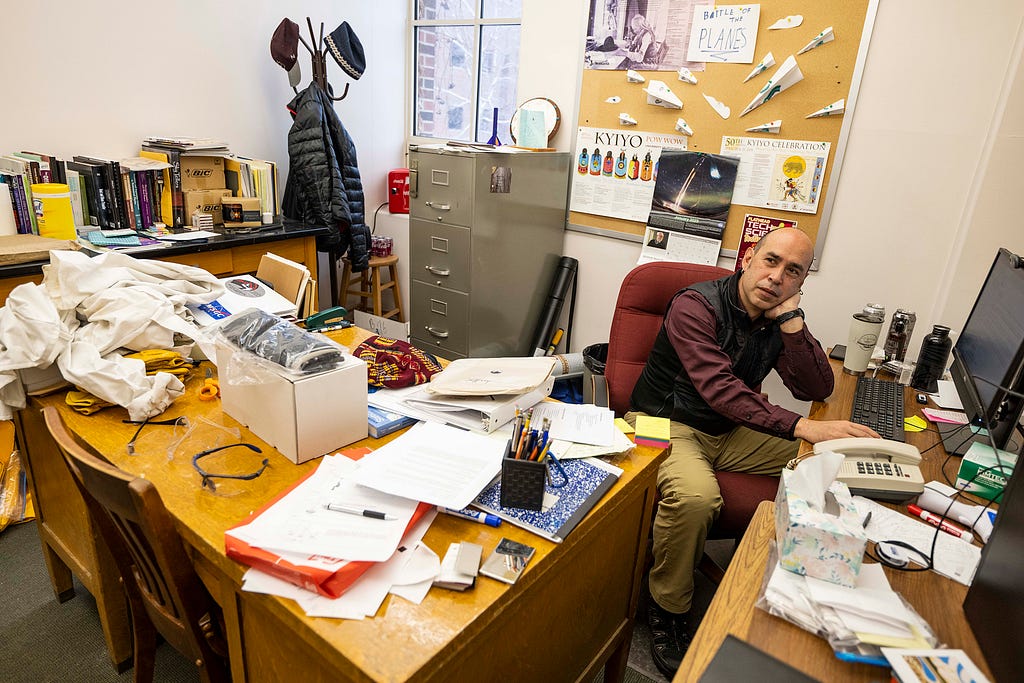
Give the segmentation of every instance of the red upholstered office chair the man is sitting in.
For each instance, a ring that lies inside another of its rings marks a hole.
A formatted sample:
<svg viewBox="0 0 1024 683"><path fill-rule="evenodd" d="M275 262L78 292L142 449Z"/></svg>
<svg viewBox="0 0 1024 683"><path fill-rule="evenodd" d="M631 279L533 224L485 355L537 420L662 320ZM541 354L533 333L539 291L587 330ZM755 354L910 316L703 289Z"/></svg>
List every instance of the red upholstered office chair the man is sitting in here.
<svg viewBox="0 0 1024 683"><path fill-rule="evenodd" d="M615 415L622 416L629 411L630 394L647 362L665 311L676 292L694 283L728 274L728 270L715 266L654 261L638 265L626 275L618 288L618 300L611 317L604 369L608 405ZM758 504L775 498L778 477L741 472L716 472L716 477L725 504L708 538L738 540ZM722 580L722 568L707 553L699 568L715 583Z"/></svg>

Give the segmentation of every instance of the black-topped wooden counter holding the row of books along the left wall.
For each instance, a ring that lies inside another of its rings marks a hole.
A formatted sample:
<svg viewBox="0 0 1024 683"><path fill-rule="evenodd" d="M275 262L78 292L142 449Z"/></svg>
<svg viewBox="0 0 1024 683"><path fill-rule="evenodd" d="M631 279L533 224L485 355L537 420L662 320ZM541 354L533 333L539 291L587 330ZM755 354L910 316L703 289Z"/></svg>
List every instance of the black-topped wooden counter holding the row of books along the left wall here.
<svg viewBox="0 0 1024 683"><path fill-rule="evenodd" d="M285 223L258 232L221 234L203 244L179 243L157 249L130 252L136 258L153 258L194 265L218 278L256 272L266 252L303 263L316 279L316 236L326 227ZM42 282L46 261L0 266L0 306L10 291L24 283Z"/></svg>

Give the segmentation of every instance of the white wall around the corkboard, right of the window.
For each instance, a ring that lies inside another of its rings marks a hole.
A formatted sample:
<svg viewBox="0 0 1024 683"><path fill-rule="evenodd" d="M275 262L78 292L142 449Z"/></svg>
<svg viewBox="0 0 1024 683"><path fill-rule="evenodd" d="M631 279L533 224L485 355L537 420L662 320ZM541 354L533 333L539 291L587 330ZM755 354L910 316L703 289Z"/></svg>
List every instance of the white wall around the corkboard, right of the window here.
<svg viewBox="0 0 1024 683"><path fill-rule="evenodd" d="M520 92L555 99L563 122L575 119L567 112L587 11L586 2L524 2L524 42L558 46L523 49ZM820 269L804 288L823 344L844 342L849 315L867 301L915 310L919 331L955 328L995 248L1024 251L1012 201L1024 196L1022 19L1019 0L880 3ZM573 128L563 126L559 148L571 148ZM607 339L618 283L639 251L566 233L565 254L581 264L573 350ZM915 355L924 332L914 336Z"/></svg>

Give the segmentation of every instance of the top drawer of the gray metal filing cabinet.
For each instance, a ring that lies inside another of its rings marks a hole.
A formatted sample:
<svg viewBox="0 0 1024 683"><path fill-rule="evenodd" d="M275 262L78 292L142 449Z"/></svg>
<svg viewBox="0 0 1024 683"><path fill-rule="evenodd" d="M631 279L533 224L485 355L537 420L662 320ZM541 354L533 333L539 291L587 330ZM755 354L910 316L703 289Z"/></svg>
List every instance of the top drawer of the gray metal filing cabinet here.
<svg viewBox="0 0 1024 683"><path fill-rule="evenodd" d="M473 213L473 160L414 153L410 164L412 170L418 170L416 194L410 200L413 217L432 223L469 225Z"/></svg>

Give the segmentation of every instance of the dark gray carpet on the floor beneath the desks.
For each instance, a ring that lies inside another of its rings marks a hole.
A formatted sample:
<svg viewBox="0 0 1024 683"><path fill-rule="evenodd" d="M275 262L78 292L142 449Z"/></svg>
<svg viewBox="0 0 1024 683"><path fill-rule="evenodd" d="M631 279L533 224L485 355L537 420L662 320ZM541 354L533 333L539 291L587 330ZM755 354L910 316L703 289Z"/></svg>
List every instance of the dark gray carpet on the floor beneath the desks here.
<svg viewBox="0 0 1024 683"><path fill-rule="evenodd" d="M721 542L719 542L721 543ZM709 544L712 548L713 544ZM729 546L712 551L728 561ZM96 602L75 581L76 595L60 604L53 595L35 522L0 532L0 681L6 683L102 683L130 681L131 670L114 671L103 643ZM702 614L714 587L697 575L694 613ZM650 658L650 633L641 604L630 647L626 683L667 683ZM693 626L693 625L691 625ZM163 643L157 649L155 680L191 683L196 668ZM600 679L598 679L600 680Z"/></svg>

